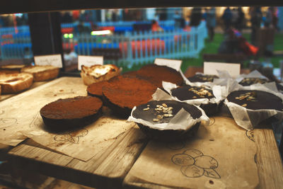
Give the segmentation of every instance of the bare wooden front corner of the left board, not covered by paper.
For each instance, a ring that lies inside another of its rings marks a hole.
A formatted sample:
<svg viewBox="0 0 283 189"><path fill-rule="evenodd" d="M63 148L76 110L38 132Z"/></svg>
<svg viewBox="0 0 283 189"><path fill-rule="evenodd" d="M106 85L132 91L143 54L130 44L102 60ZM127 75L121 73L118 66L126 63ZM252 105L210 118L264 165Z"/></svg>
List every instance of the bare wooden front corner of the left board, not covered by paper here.
<svg viewBox="0 0 283 189"><path fill-rule="evenodd" d="M47 176L98 188L121 188L146 140L137 127L121 134L115 142L89 161L80 161L50 151L31 140L8 152L12 164Z"/></svg>

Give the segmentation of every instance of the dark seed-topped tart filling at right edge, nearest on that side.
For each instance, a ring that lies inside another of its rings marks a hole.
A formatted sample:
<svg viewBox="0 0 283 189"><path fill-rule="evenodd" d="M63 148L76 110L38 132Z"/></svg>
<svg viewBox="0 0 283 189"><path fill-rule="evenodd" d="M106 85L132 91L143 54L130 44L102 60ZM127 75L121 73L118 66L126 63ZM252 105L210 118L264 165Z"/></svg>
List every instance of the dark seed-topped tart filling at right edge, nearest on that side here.
<svg viewBox="0 0 283 189"><path fill-rule="evenodd" d="M279 110L282 111L282 99L265 91L241 90L233 91L227 100L251 110Z"/></svg>

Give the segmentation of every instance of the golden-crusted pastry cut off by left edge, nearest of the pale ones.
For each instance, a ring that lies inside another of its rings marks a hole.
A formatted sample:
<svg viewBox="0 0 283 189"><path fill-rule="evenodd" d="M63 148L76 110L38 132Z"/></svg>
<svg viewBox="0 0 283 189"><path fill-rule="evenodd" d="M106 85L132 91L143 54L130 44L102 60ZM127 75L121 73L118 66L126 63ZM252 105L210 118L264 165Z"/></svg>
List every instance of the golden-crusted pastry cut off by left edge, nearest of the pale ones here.
<svg viewBox="0 0 283 189"><path fill-rule="evenodd" d="M0 75L1 93L3 94L23 91L26 88L30 88L31 84L33 84L32 74L18 73Z"/></svg>

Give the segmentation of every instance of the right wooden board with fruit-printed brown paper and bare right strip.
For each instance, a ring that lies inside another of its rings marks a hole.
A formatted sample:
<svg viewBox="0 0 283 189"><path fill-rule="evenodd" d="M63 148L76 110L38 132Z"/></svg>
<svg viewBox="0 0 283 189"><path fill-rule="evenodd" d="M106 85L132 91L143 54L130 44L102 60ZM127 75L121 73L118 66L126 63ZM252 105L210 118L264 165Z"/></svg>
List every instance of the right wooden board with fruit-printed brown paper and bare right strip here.
<svg viewBox="0 0 283 189"><path fill-rule="evenodd" d="M194 139L149 142L124 188L280 188L282 161L272 130L246 131L215 117ZM271 132L270 132L271 131Z"/></svg>

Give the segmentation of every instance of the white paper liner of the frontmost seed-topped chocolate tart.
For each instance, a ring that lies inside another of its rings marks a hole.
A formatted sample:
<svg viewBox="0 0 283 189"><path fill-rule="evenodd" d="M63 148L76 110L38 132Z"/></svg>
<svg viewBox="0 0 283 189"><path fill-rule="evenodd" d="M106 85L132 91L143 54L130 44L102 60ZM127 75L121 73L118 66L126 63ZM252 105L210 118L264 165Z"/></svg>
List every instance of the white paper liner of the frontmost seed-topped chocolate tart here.
<svg viewBox="0 0 283 189"><path fill-rule="evenodd" d="M160 88L157 88L156 92L152 95L152 97L153 101L172 100L171 96L169 96L166 92L162 91ZM137 107L134 106L134 108L132 109L132 113L134 112L134 110L136 110L136 108ZM205 125L209 125L209 118L207 117L207 115L205 115L204 110L199 107L197 108L202 112L200 118L197 119L193 119L190 113L181 108L180 111L176 113L175 116L168 123L154 124L146 120L134 118L132 116L132 113L129 116L128 121L138 122L142 125L146 125L156 130L189 130L190 127L197 124L197 122L201 122L202 120L204 120Z"/></svg>

